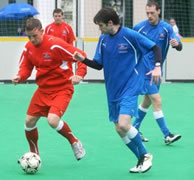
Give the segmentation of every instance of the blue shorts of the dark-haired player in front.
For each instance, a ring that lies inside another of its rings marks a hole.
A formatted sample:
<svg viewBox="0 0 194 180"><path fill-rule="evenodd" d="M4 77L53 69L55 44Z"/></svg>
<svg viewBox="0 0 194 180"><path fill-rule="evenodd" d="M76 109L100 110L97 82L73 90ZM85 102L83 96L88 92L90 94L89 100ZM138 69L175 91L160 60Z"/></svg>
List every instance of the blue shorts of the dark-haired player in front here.
<svg viewBox="0 0 194 180"><path fill-rule="evenodd" d="M120 114L128 114L131 117L137 115L138 96L127 96L116 102L109 102L109 120L118 122Z"/></svg>

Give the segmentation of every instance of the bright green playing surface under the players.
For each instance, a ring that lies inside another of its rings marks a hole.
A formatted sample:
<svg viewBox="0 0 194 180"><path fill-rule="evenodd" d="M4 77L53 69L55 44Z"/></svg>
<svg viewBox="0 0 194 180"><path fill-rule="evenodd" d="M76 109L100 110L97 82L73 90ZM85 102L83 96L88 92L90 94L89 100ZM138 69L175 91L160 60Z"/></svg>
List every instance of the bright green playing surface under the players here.
<svg viewBox="0 0 194 180"><path fill-rule="evenodd" d="M194 178L194 84L162 84L163 111L173 133L182 139L166 146L151 109L141 131L149 138L153 167L145 174L130 174L135 156L125 147L108 121L104 84L80 84L63 116L83 142L87 154L76 161L67 140L40 119L39 150L42 167L25 174L17 159L28 151L24 136L25 112L36 89L34 84L0 85L0 179L1 180L193 180Z"/></svg>

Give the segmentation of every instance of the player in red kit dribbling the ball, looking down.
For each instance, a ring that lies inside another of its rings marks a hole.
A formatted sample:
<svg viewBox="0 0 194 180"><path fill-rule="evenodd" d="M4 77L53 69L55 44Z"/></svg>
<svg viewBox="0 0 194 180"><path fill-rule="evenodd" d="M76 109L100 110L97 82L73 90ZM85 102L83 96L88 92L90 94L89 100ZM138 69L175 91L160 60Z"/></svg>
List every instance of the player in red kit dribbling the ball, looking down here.
<svg viewBox="0 0 194 180"><path fill-rule="evenodd" d="M20 59L18 74L12 79L14 84L30 77L35 67L38 85L27 110L25 134L30 151L39 154L37 122L40 117L47 117L49 125L67 138L77 160L85 156L82 143L73 135L67 123L61 120L62 115L73 95L73 84L70 77L72 70L67 62L73 62L75 51L86 54L60 38L45 35L38 19L26 21L26 44Z"/></svg>

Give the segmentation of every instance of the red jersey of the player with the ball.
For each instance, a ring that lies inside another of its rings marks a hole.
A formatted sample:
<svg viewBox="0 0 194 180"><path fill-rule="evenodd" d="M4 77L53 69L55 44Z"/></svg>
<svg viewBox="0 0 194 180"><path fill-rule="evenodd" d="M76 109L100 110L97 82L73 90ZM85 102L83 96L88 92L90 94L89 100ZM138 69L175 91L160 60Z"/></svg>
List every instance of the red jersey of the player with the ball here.
<svg viewBox="0 0 194 180"><path fill-rule="evenodd" d="M20 82L30 77L33 68L37 70L36 83L42 91L57 91L63 88L72 88L69 78L73 75L67 62L75 62L73 54L80 49L66 43L60 38L49 35L43 36L40 45L34 46L30 41L26 44L20 58L18 75Z"/></svg>

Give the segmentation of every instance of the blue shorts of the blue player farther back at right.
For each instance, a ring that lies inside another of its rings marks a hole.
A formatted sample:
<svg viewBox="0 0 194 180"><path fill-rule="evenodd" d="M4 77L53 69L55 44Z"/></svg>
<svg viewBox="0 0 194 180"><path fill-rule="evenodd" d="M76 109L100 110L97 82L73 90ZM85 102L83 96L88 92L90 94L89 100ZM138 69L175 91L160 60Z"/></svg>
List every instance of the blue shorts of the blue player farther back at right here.
<svg viewBox="0 0 194 180"><path fill-rule="evenodd" d="M143 95L151 95L151 94L157 94L159 93L160 89L160 83L159 85L156 85L155 82L152 82L152 85L150 85L150 79L146 79L144 82L144 87L143 87Z"/></svg>

